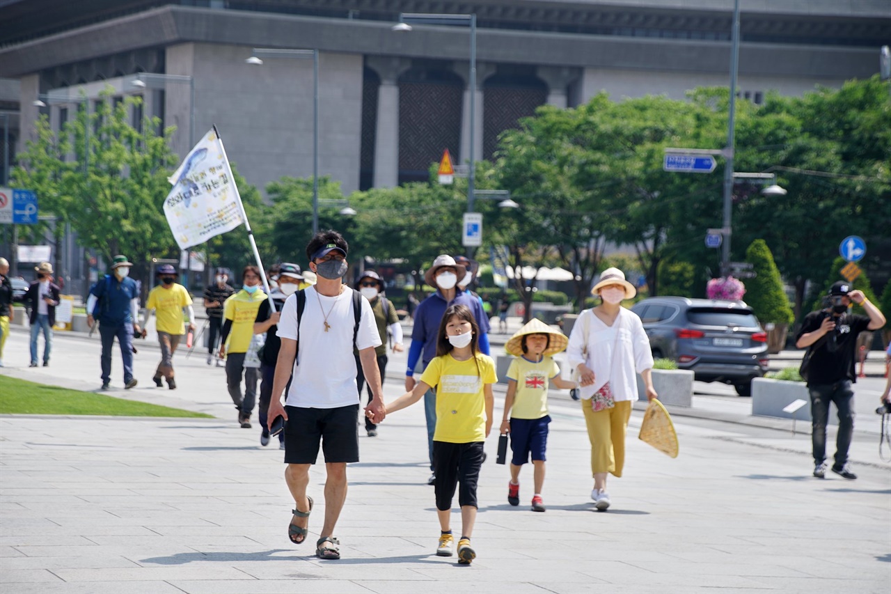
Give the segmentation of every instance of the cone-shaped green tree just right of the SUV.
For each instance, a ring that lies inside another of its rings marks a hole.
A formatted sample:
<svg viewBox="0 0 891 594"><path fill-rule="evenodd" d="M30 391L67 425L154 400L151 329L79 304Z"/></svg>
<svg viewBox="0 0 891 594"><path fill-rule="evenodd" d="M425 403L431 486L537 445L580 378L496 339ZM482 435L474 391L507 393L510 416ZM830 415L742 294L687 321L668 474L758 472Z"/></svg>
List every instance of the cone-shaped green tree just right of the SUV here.
<svg viewBox="0 0 891 594"><path fill-rule="evenodd" d="M780 270L763 239L756 239L748 246L746 261L752 265L755 276L746 280L745 299L756 317L762 324L791 324L795 317L783 292Z"/></svg>

